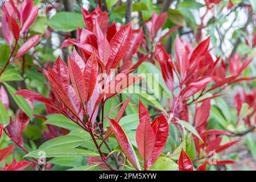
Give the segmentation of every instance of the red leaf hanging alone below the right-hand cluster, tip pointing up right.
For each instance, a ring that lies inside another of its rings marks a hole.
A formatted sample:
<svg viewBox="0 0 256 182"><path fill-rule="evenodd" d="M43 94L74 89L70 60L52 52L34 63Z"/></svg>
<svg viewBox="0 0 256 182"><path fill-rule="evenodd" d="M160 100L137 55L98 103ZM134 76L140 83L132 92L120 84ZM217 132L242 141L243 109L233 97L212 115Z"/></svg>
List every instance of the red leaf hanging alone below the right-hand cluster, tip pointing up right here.
<svg viewBox="0 0 256 182"><path fill-rule="evenodd" d="M198 128L204 125L210 114L210 100L205 100L200 107L196 108L194 126Z"/></svg>

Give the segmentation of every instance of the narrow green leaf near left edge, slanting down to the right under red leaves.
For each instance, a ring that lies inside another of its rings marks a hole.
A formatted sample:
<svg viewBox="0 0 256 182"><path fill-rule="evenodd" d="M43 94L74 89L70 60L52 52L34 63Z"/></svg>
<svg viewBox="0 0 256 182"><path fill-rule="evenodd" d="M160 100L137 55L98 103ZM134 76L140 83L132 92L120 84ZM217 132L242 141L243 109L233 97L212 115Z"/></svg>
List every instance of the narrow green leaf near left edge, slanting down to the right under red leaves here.
<svg viewBox="0 0 256 182"><path fill-rule="evenodd" d="M13 88L13 86L10 86L6 83L5 83L5 86L6 86L7 90L9 91L11 97L13 97L16 104L20 107L20 109L22 109L24 111L24 113L27 114L27 116L32 121L33 112L32 112L30 105L28 104L28 102L23 97L14 95L14 93L16 93L17 90L15 88Z"/></svg>

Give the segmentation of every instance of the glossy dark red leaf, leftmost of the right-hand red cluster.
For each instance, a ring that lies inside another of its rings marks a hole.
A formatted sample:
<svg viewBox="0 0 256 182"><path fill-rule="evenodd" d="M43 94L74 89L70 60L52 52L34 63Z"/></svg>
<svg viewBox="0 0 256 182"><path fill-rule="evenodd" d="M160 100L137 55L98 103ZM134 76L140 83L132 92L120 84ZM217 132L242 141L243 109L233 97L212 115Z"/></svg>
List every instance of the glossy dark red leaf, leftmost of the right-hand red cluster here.
<svg viewBox="0 0 256 182"><path fill-rule="evenodd" d="M174 65L172 64L172 60L168 56L166 50L159 45L155 46L155 55L160 65L164 82L166 82L168 89L171 91L174 90L174 75L172 72Z"/></svg>

